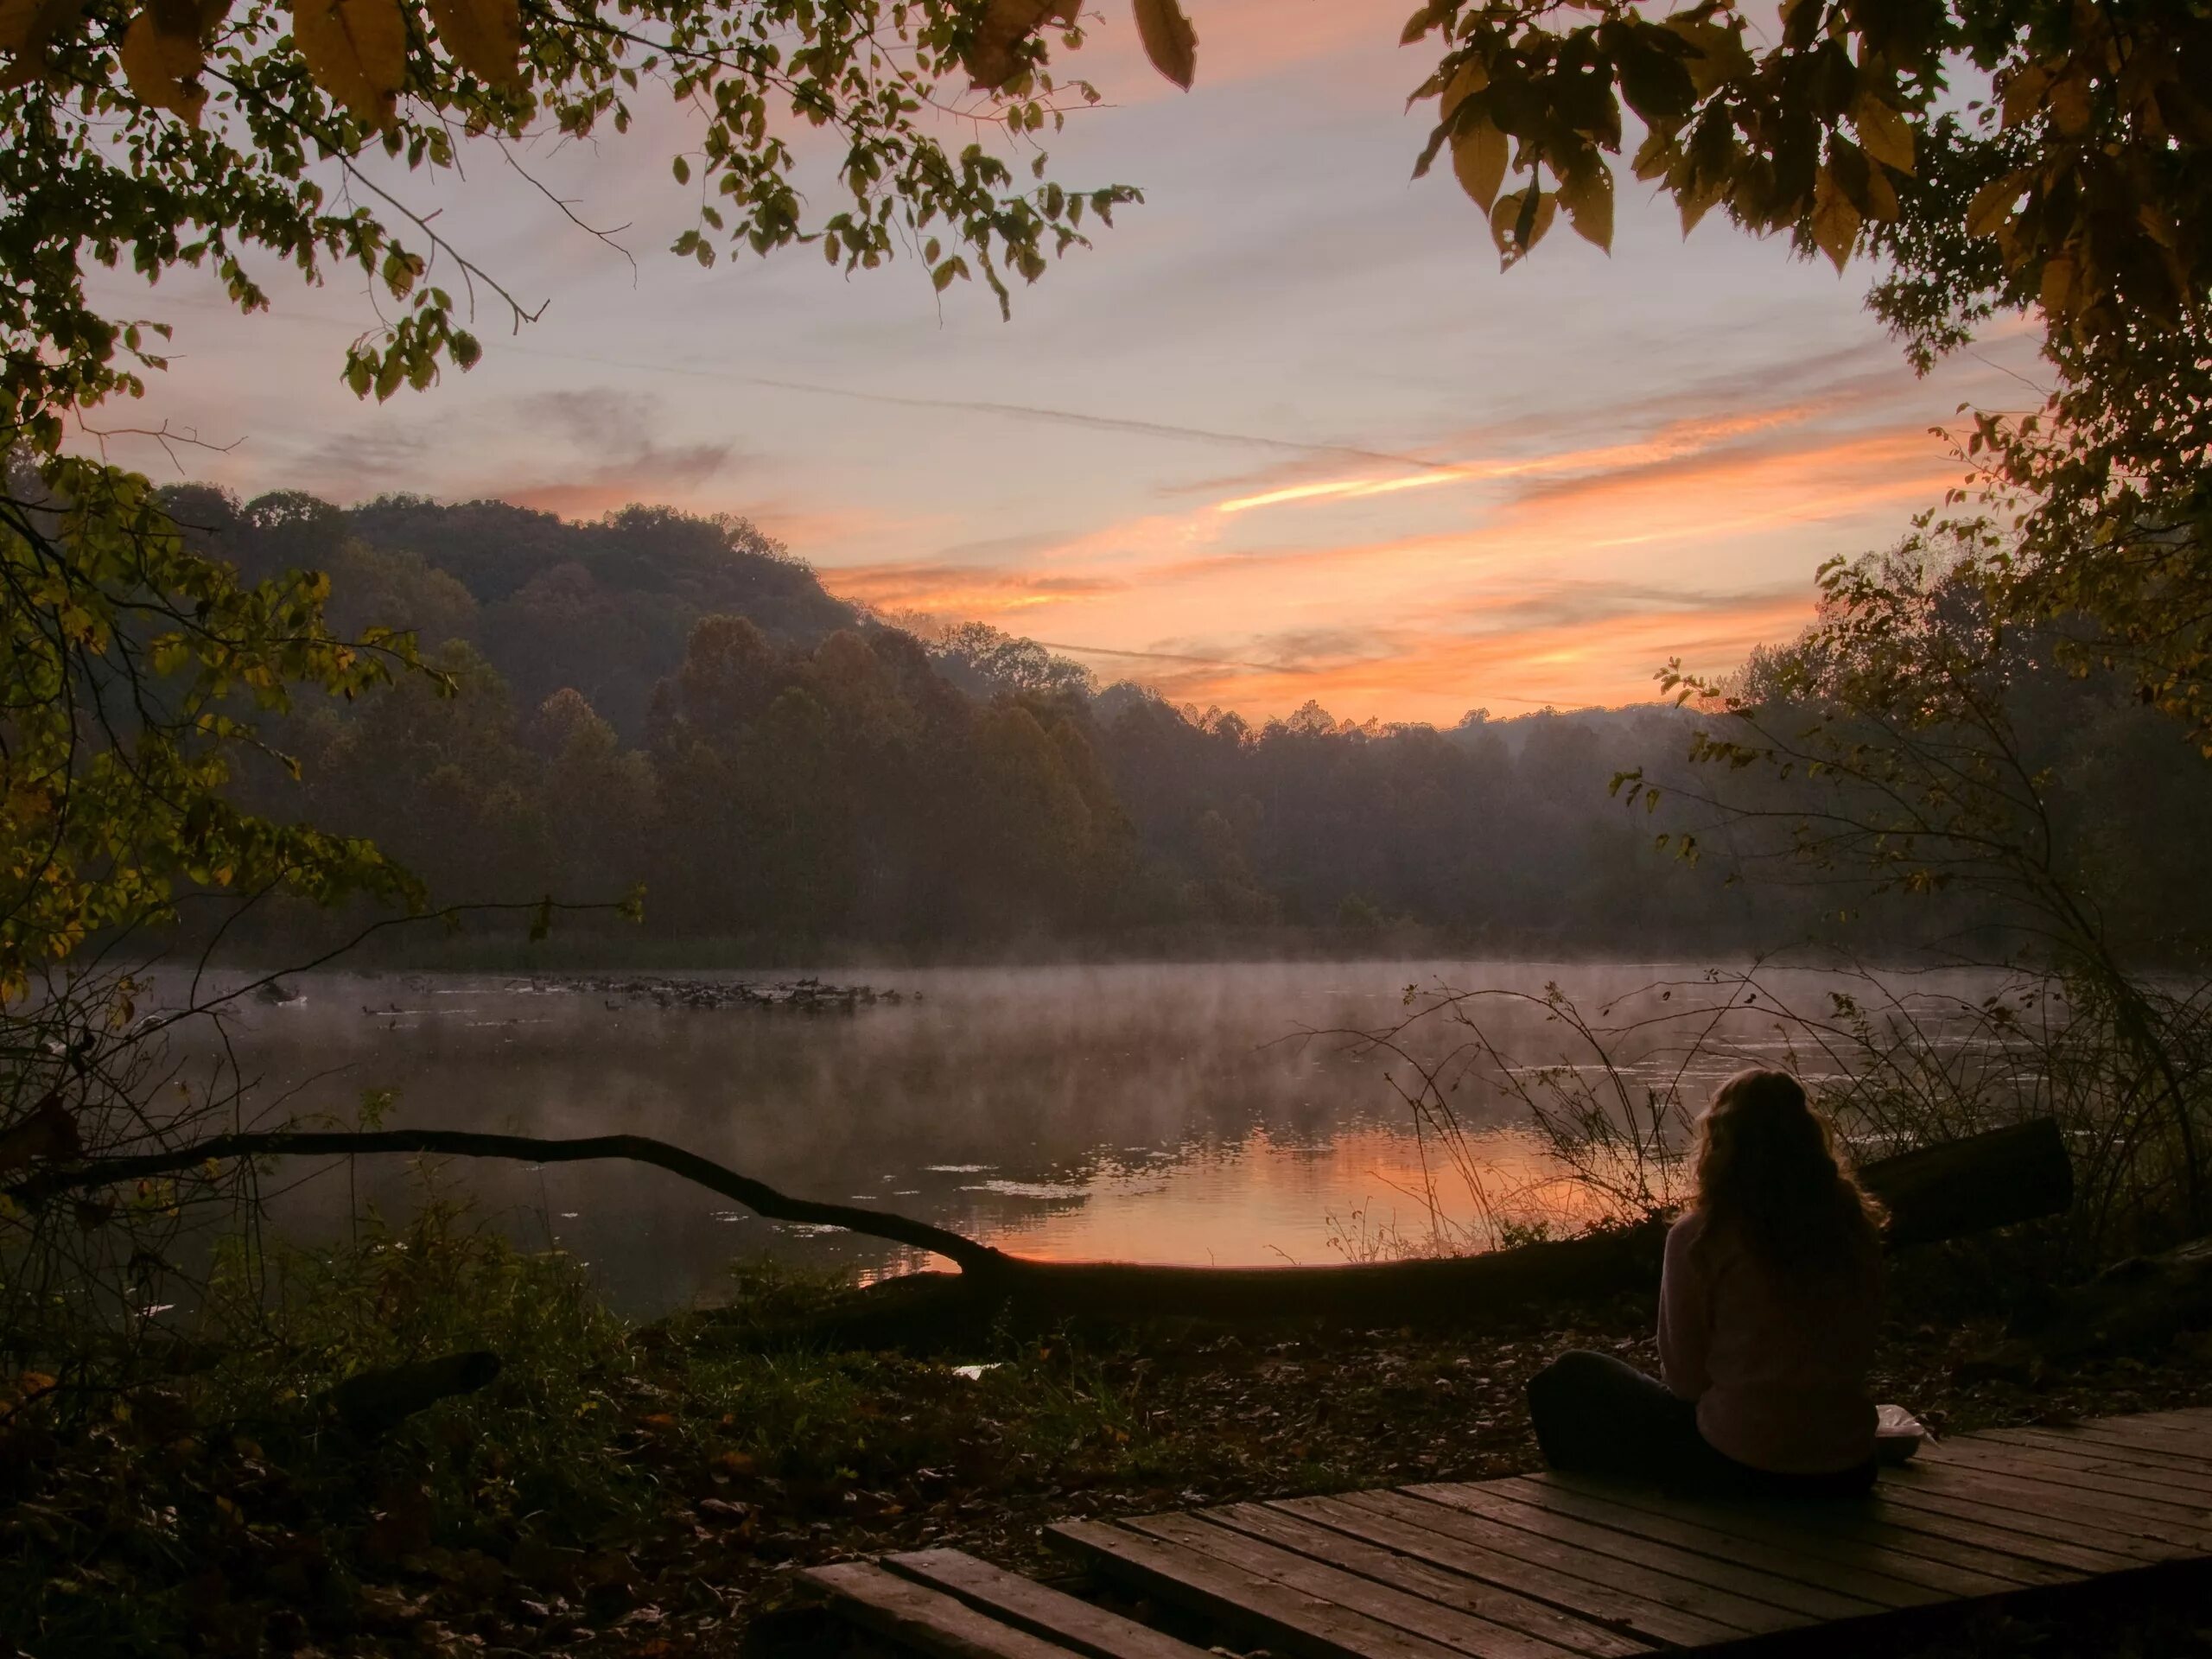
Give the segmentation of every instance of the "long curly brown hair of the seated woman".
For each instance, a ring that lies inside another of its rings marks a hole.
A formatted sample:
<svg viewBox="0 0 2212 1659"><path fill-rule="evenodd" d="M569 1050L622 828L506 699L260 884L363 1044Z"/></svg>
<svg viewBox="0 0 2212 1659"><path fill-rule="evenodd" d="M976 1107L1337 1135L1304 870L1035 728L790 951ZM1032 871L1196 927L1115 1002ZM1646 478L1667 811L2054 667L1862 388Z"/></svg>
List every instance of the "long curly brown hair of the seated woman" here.
<svg viewBox="0 0 2212 1659"><path fill-rule="evenodd" d="M1697 1208L1705 1241L1734 1239L1792 1276L1871 1261L1882 1223L1805 1084L1761 1066L1721 1084L1697 1119Z"/></svg>

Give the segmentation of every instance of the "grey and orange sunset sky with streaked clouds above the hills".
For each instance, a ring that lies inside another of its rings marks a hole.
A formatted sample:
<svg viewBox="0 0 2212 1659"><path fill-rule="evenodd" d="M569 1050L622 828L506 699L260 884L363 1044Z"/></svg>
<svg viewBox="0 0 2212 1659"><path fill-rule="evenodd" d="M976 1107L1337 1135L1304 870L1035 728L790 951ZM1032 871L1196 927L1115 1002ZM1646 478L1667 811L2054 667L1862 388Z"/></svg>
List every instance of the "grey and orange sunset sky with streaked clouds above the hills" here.
<svg viewBox="0 0 2212 1659"><path fill-rule="evenodd" d="M597 148L498 150L425 197L526 301L520 336L429 394L354 403L358 279L261 272L124 310L177 363L113 425L190 429L190 476L352 502L405 489L591 518L630 500L757 520L841 595L978 617L1177 701L1449 723L1648 697L1672 655L1725 668L1809 615L1814 566L1893 542L1958 465L1960 403L2033 394L2000 332L1916 380L1843 279L1630 184L1613 257L1564 223L1500 274L1449 168L1409 181L1422 77L1405 0L1192 0L1199 84L1135 53L1119 0L1082 53L1108 108L1055 177L1146 206L1015 296L942 303L920 265L845 279L812 250L699 270L666 108ZM1630 139L1632 146L1635 139ZM403 175L405 177L405 175ZM113 458L175 478L159 449Z"/></svg>

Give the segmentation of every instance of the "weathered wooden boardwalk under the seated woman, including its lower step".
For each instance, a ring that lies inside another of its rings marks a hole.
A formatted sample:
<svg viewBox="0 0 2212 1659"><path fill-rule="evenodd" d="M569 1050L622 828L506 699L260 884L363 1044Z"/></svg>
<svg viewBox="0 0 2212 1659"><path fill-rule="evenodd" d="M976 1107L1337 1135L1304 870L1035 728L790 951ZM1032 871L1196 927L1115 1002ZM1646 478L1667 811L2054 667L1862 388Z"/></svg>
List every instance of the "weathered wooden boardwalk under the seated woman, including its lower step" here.
<svg viewBox="0 0 2212 1659"><path fill-rule="evenodd" d="M2212 1557L2212 1411L1955 1436L1856 1502L1686 1500L1537 1473L1062 1522L1051 1535L1097 1577L1279 1655L1699 1652ZM1201 1652L958 1551L810 1577L925 1652Z"/></svg>

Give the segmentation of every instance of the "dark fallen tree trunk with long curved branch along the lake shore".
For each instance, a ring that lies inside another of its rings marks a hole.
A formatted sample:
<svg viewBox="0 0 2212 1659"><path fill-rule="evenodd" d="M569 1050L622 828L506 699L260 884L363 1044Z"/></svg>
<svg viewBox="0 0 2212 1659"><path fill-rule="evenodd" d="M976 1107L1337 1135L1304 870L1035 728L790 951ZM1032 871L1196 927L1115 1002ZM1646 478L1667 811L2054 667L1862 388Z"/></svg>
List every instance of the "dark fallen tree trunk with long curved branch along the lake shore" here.
<svg viewBox="0 0 2212 1659"><path fill-rule="evenodd" d="M646 1135L535 1139L469 1130L268 1130L219 1135L135 1157L49 1164L7 1188L24 1206L62 1192L139 1181L239 1157L440 1152L533 1164L633 1159L697 1181L776 1221L847 1228L949 1256L958 1274L907 1274L856 1292L852 1332L929 1332L942 1321L1011 1312L1029 1321L1327 1318L1369 1325L1467 1321L1657 1283L1666 1221L1601 1228L1515 1250L1436 1261L1318 1267L1172 1267L1119 1261L1031 1261L927 1221L794 1199L697 1152ZM1860 1183L1889 1212L1891 1245L1955 1239L2057 1214L2073 1199L2066 1144L2051 1119L1878 1159ZM843 1325L838 1327L845 1329Z"/></svg>

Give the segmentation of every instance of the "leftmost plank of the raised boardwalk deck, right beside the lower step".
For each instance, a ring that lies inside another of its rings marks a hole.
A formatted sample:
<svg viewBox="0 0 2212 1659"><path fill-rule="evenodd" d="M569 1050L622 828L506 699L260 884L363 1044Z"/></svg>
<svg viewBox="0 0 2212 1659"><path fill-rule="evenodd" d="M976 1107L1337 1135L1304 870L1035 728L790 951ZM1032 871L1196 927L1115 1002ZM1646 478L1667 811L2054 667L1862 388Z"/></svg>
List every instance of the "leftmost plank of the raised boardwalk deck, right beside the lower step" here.
<svg viewBox="0 0 2212 1659"><path fill-rule="evenodd" d="M1057 1522L1044 1535L1097 1571L1135 1584L1161 1601L1197 1608L1301 1659L1464 1659L1365 1613L1292 1590L1265 1573L1230 1566L1217 1555L1161 1544L1110 1522Z"/></svg>

